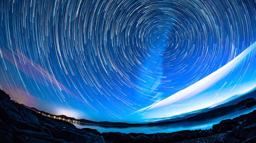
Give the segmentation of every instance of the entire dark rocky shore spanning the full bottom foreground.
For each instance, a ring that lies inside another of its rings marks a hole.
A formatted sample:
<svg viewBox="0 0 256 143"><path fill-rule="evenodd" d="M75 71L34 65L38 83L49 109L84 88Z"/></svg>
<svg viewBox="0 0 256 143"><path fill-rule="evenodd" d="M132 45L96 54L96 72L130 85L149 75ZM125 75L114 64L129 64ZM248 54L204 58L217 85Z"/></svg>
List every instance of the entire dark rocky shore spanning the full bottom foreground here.
<svg viewBox="0 0 256 143"><path fill-rule="evenodd" d="M253 106L252 101L246 106ZM49 118L10 100L0 91L0 142L256 142L256 110L221 121L210 130L173 133L99 133Z"/></svg>

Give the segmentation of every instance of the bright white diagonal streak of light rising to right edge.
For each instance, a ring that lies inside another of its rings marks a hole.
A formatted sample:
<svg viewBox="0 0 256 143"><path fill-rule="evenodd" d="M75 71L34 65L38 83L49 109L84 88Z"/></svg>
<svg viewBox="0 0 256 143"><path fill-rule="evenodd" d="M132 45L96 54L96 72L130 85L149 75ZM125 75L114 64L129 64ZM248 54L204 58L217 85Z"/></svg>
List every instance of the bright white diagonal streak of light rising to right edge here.
<svg viewBox="0 0 256 143"><path fill-rule="evenodd" d="M228 62L226 65L218 69L217 71L209 74L208 76L204 77L203 79L199 80L198 82L190 85L186 89L183 89L157 103L154 103L150 106L147 106L146 108L142 108L138 111L143 110L150 110L154 108L164 107L167 105L170 105L177 101L182 101L187 98L190 98L192 96L195 96L204 90L210 88L213 84L215 84L217 81L219 81L221 78L223 78L225 75L230 73L234 68L236 68L241 61L243 61L256 46L256 42L251 44L247 49L245 49L242 53L240 53L236 58L234 58L232 61Z"/></svg>

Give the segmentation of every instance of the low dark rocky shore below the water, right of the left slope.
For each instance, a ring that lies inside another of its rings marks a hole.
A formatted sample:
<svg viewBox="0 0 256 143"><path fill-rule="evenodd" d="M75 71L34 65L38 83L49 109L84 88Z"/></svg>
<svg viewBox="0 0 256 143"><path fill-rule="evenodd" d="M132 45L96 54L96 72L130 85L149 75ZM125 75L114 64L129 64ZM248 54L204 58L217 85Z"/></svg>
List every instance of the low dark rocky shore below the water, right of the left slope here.
<svg viewBox="0 0 256 143"><path fill-rule="evenodd" d="M256 110L232 120L223 120L209 130L173 133L102 133L106 142L255 142Z"/></svg>

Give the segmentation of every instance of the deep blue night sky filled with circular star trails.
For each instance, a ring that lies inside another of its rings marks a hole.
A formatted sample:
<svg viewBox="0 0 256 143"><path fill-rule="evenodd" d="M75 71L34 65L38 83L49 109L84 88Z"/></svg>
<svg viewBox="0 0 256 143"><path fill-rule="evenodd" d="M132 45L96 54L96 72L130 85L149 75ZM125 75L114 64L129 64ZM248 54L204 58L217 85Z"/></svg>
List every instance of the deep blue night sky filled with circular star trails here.
<svg viewBox="0 0 256 143"><path fill-rule="evenodd" d="M0 88L93 121L148 122L256 87L256 1L1 1Z"/></svg>

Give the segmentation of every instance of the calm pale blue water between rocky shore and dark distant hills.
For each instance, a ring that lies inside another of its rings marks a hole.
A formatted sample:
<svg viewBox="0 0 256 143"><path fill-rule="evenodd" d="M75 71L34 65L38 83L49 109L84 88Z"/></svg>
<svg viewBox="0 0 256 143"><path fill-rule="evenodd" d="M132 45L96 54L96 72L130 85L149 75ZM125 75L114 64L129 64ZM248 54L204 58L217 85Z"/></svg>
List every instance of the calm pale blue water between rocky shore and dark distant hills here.
<svg viewBox="0 0 256 143"><path fill-rule="evenodd" d="M220 123L221 120L233 119L239 117L240 115L249 113L253 111L256 107L253 108L244 108L232 113L229 113L226 116L216 117L215 119L207 121L197 121L197 122L179 122L179 123L170 123L166 125L155 125L155 126L138 126L138 127L103 127L98 125L87 125L87 124L74 124L77 128L91 128L96 129L100 133L103 132L121 132L121 133L169 133L176 132L181 130L196 130L196 129L210 129L212 125Z"/></svg>

